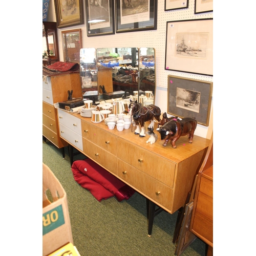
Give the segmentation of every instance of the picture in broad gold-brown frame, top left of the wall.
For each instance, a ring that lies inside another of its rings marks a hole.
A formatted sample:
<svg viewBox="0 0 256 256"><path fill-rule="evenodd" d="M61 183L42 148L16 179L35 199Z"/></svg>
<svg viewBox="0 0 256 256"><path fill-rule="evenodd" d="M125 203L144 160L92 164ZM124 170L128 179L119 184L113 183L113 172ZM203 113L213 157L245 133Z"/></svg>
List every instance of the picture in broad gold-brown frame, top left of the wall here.
<svg viewBox="0 0 256 256"><path fill-rule="evenodd" d="M82 0L54 0L58 28L66 28L84 23Z"/></svg>

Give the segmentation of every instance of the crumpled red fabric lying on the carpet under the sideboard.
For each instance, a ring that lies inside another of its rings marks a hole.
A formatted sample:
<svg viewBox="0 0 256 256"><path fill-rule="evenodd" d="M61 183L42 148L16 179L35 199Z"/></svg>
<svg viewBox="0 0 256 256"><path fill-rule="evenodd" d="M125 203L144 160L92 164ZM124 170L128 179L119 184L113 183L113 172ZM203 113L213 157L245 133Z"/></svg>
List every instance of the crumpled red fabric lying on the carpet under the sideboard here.
<svg viewBox="0 0 256 256"><path fill-rule="evenodd" d="M120 202L135 193L133 188L89 158L74 161L71 169L75 181L88 189L99 202L113 196Z"/></svg>

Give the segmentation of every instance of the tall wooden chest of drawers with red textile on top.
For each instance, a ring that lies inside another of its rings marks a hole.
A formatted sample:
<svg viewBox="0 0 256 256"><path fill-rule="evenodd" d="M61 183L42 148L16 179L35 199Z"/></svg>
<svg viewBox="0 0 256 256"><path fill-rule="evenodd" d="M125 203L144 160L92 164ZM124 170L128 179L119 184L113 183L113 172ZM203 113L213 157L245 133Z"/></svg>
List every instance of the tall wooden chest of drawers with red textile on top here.
<svg viewBox="0 0 256 256"><path fill-rule="evenodd" d="M59 136L57 109L54 108L53 104L67 100L68 90L73 90L72 96L74 98L82 98L79 73L43 76L42 135L58 148L63 148L68 143Z"/></svg>

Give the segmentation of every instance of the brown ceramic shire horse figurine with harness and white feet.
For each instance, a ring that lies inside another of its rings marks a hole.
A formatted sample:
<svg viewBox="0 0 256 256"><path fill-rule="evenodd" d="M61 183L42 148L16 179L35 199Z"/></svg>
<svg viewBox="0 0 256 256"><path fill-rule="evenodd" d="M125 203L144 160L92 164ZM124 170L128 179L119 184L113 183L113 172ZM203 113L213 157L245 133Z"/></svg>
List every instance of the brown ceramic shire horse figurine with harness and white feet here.
<svg viewBox="0 0 256 256"><path fill-rule="evenodd" d="M138 103L136 101L130 100L129 105L129 112L131 113L131 116L135 122L136 130L134 134L139 134L140 137L145 137L145 122L151 121L150 125L148 127L154 127L154 118L161 122L160 115L161 110L156 105L147 105L142 106L141 103Z"/></svg>

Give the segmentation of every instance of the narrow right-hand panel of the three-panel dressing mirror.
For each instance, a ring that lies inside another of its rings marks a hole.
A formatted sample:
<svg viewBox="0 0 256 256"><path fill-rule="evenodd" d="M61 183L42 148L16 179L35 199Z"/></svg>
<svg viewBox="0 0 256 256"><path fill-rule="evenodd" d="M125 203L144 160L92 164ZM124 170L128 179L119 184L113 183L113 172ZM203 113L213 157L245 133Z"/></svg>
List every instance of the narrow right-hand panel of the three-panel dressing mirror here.
<svg viewBox="0 0 256 256"><path fill-rule="evenodd" d="M156 91L154 48L140 48L139 71L140 94L144 94L146 96L146 99L144 99L144 104L154 104L154 96Z"/></svg>

